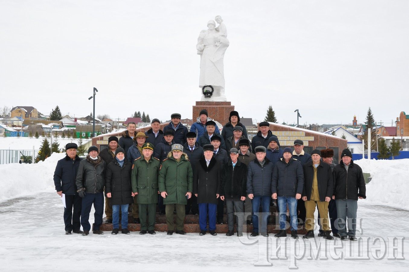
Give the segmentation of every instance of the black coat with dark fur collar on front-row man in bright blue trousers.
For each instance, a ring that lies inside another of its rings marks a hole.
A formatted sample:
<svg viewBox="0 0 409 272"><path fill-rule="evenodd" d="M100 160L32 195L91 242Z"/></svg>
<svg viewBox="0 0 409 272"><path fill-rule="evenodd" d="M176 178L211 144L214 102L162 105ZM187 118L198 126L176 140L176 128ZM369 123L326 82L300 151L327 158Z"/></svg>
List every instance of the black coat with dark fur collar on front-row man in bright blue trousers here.
<svg viewBox="0 0 409 272"><path fill-rule="evenodd" d="M205 157L196 163L196 171L193 172L193 194L198 194L198 203L217 204L216 194L220 191L220 176L222 169L215 158L211 158L209 166L206 165Z"/></svg>

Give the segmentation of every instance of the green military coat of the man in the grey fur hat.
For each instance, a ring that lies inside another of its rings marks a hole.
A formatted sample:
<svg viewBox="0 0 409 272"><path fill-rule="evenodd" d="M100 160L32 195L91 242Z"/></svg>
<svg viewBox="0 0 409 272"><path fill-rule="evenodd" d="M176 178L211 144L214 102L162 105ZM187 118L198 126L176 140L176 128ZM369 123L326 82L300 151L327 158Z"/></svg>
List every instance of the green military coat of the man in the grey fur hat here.
<svg viewBox="0 0 409 272"><path fill-rule="evenodd" d="M159 191L168 194L163 204L187 204L185 195L193 192L193 171L186 153L177 162L169 152L159 171Z"/></svg>

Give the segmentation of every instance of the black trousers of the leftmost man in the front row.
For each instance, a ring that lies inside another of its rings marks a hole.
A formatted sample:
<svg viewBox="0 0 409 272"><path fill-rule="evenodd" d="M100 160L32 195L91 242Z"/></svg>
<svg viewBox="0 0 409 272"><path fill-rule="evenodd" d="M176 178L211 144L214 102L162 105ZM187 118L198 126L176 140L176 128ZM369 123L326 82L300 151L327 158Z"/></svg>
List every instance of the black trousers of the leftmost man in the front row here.
<svg viewBox="0 0 409 272"><path fill-rule="evenodd" d="M64 208L65 231L80 229L81 203L82 199L78 194L65 195L65 206L67 207ZM74 211L72 211L72 208L74 208Z"/></svg>

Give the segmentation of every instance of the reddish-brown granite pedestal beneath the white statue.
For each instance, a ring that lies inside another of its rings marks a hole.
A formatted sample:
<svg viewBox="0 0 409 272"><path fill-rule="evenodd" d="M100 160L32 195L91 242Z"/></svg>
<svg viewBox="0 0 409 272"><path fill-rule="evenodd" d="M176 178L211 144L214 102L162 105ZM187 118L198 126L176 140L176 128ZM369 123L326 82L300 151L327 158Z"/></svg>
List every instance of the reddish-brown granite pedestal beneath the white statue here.
<svg viewBox="0 0 409 272"><path fill-rule="evenodd" d="M193 106L193 122L196 122L202 109L206 109L210 118L224 126L229 122L230 111L234 111L234 106L228 101L196 101L196 106Z"/></svg>

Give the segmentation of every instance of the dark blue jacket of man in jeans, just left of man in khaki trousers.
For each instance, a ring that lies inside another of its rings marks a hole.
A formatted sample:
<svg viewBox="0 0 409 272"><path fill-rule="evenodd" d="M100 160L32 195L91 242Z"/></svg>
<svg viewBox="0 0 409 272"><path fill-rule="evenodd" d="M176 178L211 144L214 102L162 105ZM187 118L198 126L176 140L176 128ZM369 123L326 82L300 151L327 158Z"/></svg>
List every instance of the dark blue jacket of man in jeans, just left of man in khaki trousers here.
<svg viewBox="0 0 409 272"><path fill-rule="evenodd" d="M302 194L304 189L304 173L301 163L291 158L288 163L281 158L273 169L271 182L272 193L279 197L295 197Z"/></svg>

